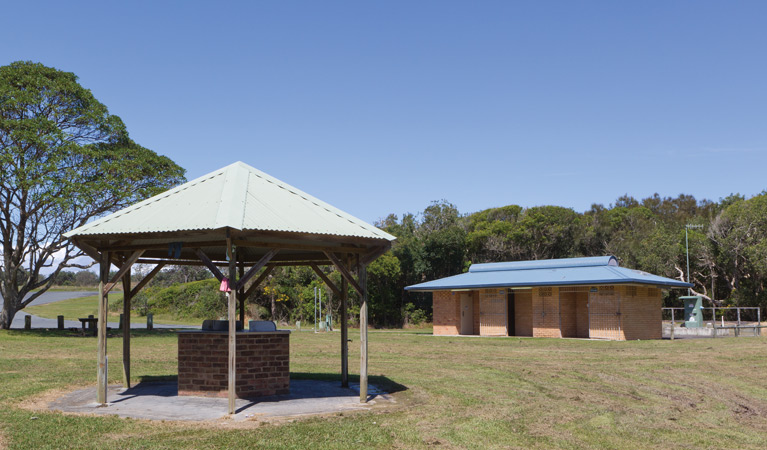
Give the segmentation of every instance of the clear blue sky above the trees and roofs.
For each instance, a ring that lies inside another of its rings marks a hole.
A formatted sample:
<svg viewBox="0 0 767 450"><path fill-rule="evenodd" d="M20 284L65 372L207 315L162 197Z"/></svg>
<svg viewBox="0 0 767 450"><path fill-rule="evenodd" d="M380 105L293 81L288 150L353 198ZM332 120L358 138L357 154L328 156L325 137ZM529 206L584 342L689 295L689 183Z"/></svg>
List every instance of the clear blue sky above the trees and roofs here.
<svg viewBox="0 0 767 450"><path fill-rule="evenodd" d="M241 160L367 221L767 188L767 2L12 2L192 179Z"/></svg>

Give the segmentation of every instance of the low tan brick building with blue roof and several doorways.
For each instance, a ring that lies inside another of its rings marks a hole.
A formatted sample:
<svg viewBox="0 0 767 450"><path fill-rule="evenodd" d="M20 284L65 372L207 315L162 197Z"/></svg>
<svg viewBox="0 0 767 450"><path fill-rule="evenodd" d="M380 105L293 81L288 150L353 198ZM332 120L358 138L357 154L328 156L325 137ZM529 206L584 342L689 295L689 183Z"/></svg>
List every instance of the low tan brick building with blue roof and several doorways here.
<svg viewBox="0 0 767 450"><path fill-rule="evenodd" d="M661 291L692 285L613 256L473 264L432 292L435 335L660 339Z"/></svg>

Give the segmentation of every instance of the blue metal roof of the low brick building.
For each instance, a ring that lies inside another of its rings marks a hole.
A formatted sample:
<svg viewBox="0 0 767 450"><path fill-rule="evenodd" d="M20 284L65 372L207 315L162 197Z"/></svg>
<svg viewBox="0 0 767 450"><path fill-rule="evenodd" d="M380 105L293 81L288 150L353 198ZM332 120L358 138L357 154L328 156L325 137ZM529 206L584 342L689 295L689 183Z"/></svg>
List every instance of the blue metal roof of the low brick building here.
<svg viewBox="0 0 767 450"><path fill-rule="evenodd" d="M498 287L646 284L688 288L692 284L618 266L613 256L472 264L467 273L408 286L408 291Z"/></svg>

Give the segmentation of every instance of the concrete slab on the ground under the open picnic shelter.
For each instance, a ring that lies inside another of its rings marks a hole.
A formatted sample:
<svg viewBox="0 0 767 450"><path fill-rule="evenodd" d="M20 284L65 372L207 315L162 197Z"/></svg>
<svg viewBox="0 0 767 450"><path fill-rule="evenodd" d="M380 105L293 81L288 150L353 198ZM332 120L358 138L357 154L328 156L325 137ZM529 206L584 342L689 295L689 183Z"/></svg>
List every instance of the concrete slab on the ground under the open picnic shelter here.
<svg viewBox="0 0 767 450"><path fill-rule="evenodd" d="M131 389L109 386L109 403L105 407L95 403L95 387L81 389L53 401L49 409L149 420L205 421L229 417L226 398L179 396L177 386L175 382L139 383ZM350 384L350 388L345 389L337 381L291 380L288 395L258 400L237 399L237 412L231 419L242 421L328 414L368 409L377 401L394 402L390 395L375 386L369 385L368 393L370 400L363 404L359 401L358 384Z"/></svg>

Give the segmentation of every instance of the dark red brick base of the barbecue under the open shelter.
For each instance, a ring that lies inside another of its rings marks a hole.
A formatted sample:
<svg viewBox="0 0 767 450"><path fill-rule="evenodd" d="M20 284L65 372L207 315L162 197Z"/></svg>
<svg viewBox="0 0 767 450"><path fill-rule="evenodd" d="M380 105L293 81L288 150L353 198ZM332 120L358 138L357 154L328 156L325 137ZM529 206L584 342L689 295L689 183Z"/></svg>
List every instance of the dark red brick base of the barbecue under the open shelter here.
<svg viewBox="0 0 767 450"><path fill-rule="evenodd" d="M237 333L235 391L252 398L290 393L290 334ZM226 397L227 333L178 334L178 395Z"/></svg>

